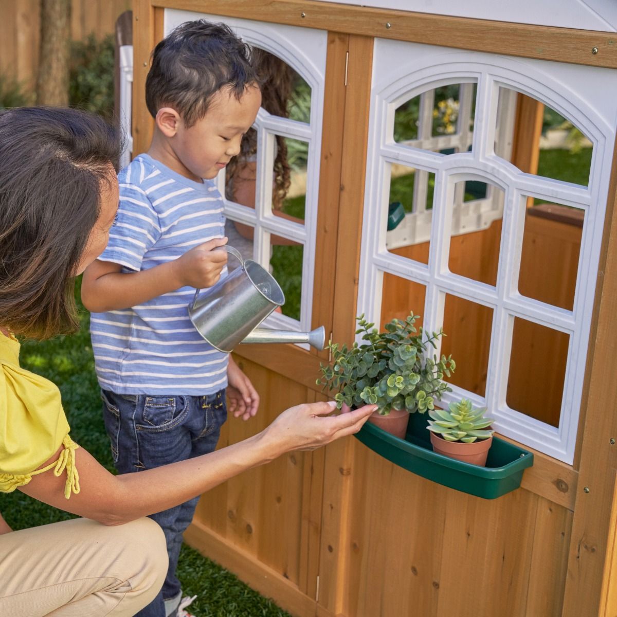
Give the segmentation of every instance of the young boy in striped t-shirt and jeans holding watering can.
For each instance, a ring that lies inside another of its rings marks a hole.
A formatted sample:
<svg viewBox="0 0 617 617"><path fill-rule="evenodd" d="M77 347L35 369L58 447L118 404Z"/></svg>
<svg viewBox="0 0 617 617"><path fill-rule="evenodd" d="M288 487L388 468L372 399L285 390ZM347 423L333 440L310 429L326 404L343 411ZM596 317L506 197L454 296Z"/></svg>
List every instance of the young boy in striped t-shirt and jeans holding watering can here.
<svg viewBox="0 0 617 617"><path fill-rule="evenodd" d="M199 336L187 307L194 288L225 275L227 254L213 250L226 242L213 180L240 151L260 102L251 51L225 25L184 23L155 48L146 80L152 143L118 176L117 221L81 288L120 473L214 450L225 392L234 416L257 412L251 382ZM188 614L178 608L175 570L196 503L152 516L165 532L169 571L139 617Z"/></svg>

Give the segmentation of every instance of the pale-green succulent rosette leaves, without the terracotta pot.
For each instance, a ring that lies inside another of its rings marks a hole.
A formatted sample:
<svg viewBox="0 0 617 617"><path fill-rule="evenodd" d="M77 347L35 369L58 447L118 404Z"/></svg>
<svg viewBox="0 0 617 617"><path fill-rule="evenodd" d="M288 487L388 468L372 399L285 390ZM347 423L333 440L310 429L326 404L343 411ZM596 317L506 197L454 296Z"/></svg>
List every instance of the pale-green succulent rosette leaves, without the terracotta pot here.
<svg viewBox="0 0 617 617"><path fill-rule="evenodd" d="M484 418L486 407L474 409L471 401L462 399L450 403L448 410L433 409L428 415L429 420L426 428L443 437L446 441L462 441L471 444L476 439L488 439L494 430L483 430L494 422L493 418Z"/></svg>

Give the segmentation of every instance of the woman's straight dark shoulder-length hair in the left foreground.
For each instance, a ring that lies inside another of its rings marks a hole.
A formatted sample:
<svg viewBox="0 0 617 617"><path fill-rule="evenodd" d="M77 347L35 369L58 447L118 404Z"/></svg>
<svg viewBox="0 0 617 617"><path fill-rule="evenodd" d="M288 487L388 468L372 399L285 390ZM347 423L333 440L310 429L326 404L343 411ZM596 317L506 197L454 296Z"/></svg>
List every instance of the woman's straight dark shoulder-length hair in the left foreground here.
<svg viewBox="0 0 617 617"><path fill-rule="evenodd" d="M120 139L75 109L0 113L0 326L47 338L78 328L75 272Z"/></svg>

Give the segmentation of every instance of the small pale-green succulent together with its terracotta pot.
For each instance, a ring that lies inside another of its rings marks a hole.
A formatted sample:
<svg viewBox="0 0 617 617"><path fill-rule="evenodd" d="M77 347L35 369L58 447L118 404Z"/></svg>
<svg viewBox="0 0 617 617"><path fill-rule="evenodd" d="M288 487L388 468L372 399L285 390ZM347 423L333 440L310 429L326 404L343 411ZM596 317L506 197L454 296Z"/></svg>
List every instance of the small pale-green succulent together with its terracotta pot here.
<svg viewBox="0 0 617 617"><path fill-rule="evenodd" d="M462 399L450 403L448 409L429 410L429 425L433 450L439 454L473 465L486 465L493 441L493 418L485 418L486 408L474 408Z"/></svg>

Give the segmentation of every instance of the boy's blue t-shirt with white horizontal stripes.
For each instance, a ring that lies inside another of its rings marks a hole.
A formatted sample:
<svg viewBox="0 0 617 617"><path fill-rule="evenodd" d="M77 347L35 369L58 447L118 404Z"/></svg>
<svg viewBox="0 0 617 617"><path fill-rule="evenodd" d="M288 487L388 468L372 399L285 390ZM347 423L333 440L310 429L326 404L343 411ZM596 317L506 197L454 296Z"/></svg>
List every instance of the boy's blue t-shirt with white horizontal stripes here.
<svg viewBox="0 0 617 617"><path fill-rule="evenodd" d="M119 263L123 272L153 268L224 236L223 201L213 180L194 182L140 154L118 181L118 216L99 259ZM227 385L228 355L205 342L189 320L194 292L183 287L131 309L92 313L103 389L199 396Z"/></svg>

